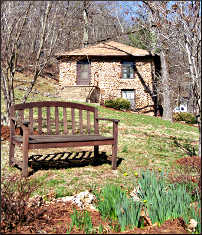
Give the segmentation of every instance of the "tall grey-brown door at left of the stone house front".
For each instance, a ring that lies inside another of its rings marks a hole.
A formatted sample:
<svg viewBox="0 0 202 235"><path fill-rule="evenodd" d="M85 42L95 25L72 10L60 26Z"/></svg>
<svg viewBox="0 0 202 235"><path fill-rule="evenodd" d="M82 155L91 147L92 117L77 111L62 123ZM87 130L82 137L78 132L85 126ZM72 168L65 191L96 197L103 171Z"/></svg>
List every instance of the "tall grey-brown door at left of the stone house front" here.
<svg viewBox="0 0 202 235"><path fill-rule="evenodd" d="M77 85L90 84L90 63L87 60L77 62Z"/></svg>

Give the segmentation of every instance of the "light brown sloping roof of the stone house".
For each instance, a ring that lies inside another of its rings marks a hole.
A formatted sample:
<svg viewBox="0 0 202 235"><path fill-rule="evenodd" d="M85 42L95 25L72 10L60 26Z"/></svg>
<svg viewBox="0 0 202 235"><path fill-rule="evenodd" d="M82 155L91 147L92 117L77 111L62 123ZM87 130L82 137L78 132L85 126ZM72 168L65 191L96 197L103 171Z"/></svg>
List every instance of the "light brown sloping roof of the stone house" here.
<svg viewBox="0 0 202 235"><path fill-rule="evenodd" d="M63 56L146 56L151 55L149 51L128 46L119 42L109 41L99 43L93 46L88 46L81 49L76 49L73 51L68 51L64 53L56 54L56 57Z"/></svg>

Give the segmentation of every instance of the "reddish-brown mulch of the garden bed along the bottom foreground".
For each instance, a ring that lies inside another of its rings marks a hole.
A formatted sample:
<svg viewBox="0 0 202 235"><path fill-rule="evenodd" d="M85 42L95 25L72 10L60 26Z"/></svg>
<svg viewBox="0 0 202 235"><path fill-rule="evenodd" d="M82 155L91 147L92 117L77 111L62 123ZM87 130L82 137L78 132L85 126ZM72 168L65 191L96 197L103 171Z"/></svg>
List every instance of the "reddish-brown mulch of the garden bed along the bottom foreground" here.
<svg viewBox="0 0 202 235"><path fill-rule="evenodd" d="M19 132L19 130L17 130ZM9 127L1 127L1 139L9 139ZM34 220L29 220L23 225L19 225L15 230L6 232L6 234L63 234L67 233L68 226L71 224L71 215L73 210L80 210L70 202L54 202L49 205L40 206L40 214ZM93 228L99 233L99 225L103 225L103 232L107 234L123 233L123 234L189 234L185 229L185 223L182 218L167 220L160 227L157 225L145 226L144 228L134 228L124 232L116 232L113 225L101 218L97 211L89 211L92 218ZM2 232L2 231L1 231ZM73 228L70 233L82 234L81 229Z"/></svg>

